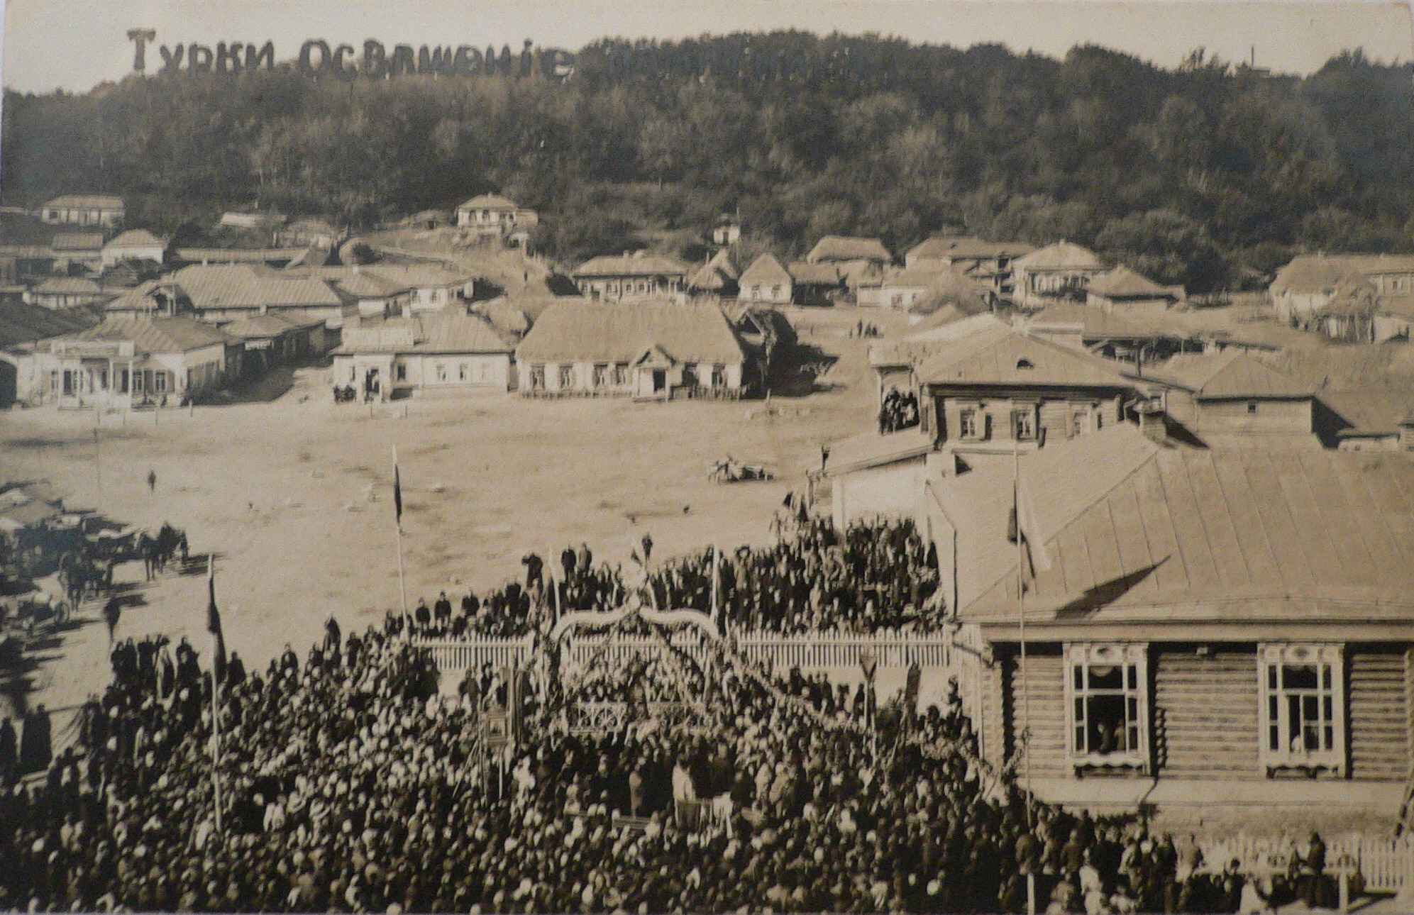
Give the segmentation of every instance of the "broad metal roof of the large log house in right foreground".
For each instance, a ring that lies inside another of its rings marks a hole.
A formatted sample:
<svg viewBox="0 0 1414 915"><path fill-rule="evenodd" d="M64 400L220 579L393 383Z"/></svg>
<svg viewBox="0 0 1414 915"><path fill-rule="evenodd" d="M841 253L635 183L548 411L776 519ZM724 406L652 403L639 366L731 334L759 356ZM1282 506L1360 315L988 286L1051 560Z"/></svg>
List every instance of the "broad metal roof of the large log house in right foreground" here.
<svg viewBox="0 0 1414 915"><path fill-rule="evenodd" d="M1414 618L1414 461L1404 455L1159 448L1120 424L1018 465L1022 530L1034 537L1028 625ZM1010 467L930 484L959 526L964 621L1015 626L1011 486Z"/></svg>

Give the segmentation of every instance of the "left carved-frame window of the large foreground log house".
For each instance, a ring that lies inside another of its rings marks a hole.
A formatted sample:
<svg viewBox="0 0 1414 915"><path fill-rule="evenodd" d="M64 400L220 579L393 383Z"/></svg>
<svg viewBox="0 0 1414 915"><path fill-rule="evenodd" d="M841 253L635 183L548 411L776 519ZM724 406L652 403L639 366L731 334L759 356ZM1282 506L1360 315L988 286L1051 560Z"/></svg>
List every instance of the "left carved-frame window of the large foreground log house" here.
<svg viewBox="0 0 1414 915"><path fill-rule="evenodd" d="M1069 752L1075 765L1144 767L1148 670L1143 645L1068 645Z"/></svg>

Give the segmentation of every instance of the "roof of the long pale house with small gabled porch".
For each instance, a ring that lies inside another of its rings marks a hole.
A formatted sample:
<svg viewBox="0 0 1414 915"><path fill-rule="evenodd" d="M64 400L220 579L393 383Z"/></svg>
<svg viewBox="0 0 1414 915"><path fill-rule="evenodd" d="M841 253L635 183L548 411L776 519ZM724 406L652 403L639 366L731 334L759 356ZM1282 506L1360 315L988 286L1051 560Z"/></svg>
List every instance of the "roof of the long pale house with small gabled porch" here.
<svg viewBox="0 0 1414 915"><path fill-rule="evenodd" d="M649 346L677 362L737 363L741 341L713 304L560 301L516 349L520 362L629 362Z"/></svg>

